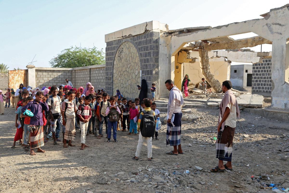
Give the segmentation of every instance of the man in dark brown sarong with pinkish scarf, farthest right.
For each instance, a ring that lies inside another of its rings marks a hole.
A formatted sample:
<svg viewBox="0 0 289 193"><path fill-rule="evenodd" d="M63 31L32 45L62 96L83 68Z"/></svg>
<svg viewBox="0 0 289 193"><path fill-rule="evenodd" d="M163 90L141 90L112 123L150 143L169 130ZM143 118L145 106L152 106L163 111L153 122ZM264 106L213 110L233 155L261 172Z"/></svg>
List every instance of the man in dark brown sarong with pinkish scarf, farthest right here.
<svg viewBox="0 0 289 193"><path fill-rule="evenodd" d="M236 119L237 117L240 118L240 110L237 99L231 91L231 88L231 81L225 80L222 83L222 91L225 94L220 104L218 136L216 141L216 158L219 159L219 163L218 166L211 169L211 172L233 170L233 139L236 128ZM224 165L223 161L227 161L227 163Z"/></svg>

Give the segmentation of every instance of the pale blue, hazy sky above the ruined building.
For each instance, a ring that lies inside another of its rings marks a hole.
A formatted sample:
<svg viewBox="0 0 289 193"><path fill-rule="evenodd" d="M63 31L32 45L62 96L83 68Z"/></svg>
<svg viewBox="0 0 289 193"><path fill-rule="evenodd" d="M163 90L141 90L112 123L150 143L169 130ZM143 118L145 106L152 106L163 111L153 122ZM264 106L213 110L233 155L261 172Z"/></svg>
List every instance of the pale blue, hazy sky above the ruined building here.
<svg viewBox="0 0 289 193"><path fill-rule="evenodd" d="M26 69L50 67L49 61L71 46L105 51L104 35L146 21L166 23L170 30L218 26L262 18L286 0L268 1L8 1L0 0L0 63ZM238 35L246 38L246 34ZM262 51L271 51L264 45ZM260 52L260 46L252 48Z"/></svg>

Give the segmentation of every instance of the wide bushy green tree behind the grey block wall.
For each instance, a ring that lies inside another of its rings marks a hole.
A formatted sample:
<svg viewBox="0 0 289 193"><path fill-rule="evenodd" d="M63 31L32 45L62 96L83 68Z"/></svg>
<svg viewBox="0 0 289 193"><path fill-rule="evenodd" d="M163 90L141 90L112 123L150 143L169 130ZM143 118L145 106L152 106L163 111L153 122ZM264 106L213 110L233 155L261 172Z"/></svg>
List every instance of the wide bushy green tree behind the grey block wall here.
<svg viewBox="0 0 289 193"><path fill-rule="evenodd" d="M57 57L49 61L52 67L75 68L91 65L105 64L105 54L103 49L97 47L73 47L61 51Z"/></svg>

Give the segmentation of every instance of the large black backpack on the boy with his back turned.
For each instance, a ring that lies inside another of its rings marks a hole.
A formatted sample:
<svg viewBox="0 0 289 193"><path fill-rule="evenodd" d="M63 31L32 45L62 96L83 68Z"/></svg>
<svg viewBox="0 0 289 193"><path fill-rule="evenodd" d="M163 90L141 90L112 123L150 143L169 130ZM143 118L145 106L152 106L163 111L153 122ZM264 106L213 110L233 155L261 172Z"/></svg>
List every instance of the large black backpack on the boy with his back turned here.
<svg viewBox="0 0 289 193"><path fill-rule="evenodd" d="M142 111L144 114L140 122L140 133L143 137L153 137L155 134L155 118L153 116L153 110Z"/></svg>

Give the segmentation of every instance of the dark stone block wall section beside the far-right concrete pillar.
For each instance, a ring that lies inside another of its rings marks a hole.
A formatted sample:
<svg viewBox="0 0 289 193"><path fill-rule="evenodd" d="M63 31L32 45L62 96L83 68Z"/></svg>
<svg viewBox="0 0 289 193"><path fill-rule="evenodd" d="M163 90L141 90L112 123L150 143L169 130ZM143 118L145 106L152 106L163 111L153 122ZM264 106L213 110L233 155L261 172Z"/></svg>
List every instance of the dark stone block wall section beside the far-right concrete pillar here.
<svg viewBox="0 0 289 193"><path fill-rule="evenodd" d="M253 64L252 93L271 93L271 59L263 59L262 63Z"/></svg>

